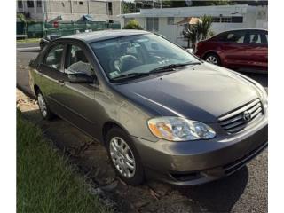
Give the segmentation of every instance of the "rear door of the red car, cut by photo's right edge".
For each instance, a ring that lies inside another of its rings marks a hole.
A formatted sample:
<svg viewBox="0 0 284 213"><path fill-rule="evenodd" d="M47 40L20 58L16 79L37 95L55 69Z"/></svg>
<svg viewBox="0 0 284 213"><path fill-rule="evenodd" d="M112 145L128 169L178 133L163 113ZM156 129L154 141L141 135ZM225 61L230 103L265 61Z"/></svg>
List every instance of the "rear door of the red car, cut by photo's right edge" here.
<svg viewBox="0 0 284 213"><path fill-rule="evenodd" d="M267 31L250 30L248 36L248 67L256 69L267 69Z"/></svg>

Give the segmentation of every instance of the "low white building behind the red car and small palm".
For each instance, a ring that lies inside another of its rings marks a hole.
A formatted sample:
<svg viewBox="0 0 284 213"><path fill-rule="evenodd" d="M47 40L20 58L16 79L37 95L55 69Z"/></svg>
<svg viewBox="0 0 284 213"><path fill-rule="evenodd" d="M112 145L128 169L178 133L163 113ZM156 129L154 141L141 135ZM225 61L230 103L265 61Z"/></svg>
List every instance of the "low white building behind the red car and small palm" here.
<svg viewBox="0 0 284 213"><path fill-rule="evenodd" d="M138 13L122 14L122 27L130 20L138 20L142 28L162 34L170 41L186 46L183 36L184 25L177 22L188 17L213 18L212 31L219 33L233 28L266 28L268 24L267 6L248 4L199 6L180 8L141 9Z"/></svg>

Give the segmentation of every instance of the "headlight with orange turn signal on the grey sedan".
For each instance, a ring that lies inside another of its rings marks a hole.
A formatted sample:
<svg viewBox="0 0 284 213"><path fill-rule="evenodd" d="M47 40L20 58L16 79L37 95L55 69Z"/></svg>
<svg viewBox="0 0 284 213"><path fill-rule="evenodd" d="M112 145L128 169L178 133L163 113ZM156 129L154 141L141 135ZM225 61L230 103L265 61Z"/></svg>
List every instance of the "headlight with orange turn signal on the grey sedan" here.
<svg viewBox="0 0 284 213"><path fill-rule="evenodd" d="M160 117L148 121L154 136L171 141L185 141L214 138L216 133L211 127L181 117Z"/></svg>

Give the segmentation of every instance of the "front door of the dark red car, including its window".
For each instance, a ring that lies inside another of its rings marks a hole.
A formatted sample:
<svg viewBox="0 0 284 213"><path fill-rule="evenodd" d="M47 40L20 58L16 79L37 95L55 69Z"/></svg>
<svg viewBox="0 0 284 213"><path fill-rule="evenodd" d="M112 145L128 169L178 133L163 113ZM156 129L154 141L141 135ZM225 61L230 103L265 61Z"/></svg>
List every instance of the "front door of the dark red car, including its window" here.
<svg viewBox="0 0 284 213"><path fill-rule="evenodd" d="M246 36L245 30L230 31L224 35L220 46L226 67L239 68L248 63Z"/></svg>

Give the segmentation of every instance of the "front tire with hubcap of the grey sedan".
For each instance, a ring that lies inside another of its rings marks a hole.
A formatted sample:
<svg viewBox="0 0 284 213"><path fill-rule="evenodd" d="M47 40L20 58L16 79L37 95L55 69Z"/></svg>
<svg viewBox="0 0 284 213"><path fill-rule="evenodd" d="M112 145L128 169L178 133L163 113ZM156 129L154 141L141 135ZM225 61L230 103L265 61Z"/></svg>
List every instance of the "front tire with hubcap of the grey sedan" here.
<svg viewBox="0 0 284 213"><path fill-rule="evenodd" d="M144 182L144 169L131 138L123 130L114 127L107 132L106 149L116 174L129 185Z"/></svg>

